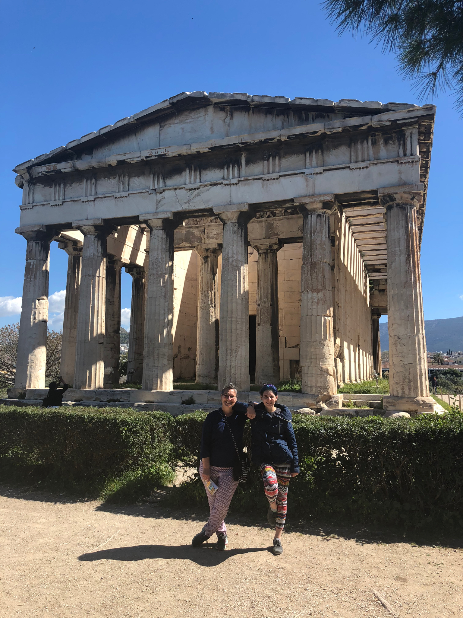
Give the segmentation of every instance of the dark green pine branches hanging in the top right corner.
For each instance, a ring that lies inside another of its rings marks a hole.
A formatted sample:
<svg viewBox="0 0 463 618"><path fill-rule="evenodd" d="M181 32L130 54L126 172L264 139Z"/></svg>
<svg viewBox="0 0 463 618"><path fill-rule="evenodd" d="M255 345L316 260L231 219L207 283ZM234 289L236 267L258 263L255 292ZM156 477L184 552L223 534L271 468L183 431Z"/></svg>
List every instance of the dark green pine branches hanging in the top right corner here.
<svg viewBox="0 0 463 618"><path fill-rule="evenodd" d="M325 0L336 30L382 42L396 53L401 74L420 99L454 90L463 111L463 2L461 0Z"/></svg>

